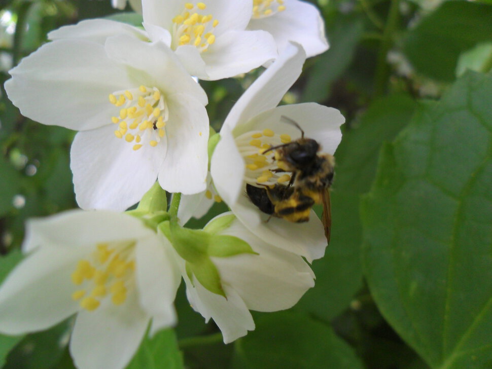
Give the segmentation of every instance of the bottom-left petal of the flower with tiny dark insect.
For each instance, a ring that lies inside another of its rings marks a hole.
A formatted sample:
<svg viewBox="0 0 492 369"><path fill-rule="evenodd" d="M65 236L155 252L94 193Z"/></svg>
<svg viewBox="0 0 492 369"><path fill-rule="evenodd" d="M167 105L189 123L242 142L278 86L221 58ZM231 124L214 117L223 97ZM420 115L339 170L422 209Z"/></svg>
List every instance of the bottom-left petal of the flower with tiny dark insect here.
<svg viewBox="0 0 492 369"><path fill-rule="evenodd" d="M71 150L77 203L83 209L125 210L152 187L166 155L165 140L155 147L114 135L114 126L79 132Z"/></svg>

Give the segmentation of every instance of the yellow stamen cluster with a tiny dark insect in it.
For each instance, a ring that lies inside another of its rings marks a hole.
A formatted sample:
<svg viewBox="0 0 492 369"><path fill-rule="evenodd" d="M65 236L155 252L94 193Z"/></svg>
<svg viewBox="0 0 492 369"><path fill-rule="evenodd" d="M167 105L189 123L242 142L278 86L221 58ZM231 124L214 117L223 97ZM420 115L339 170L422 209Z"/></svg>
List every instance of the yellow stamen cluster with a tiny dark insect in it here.
<svg viewBox="0 0 492 369"><path fill-rule="evenodd" d="M109 95L110 102L120 107L119 115L111 121L118 125L117 138L134 142L133 150L142 145L153 147L166 134L165 125L169 118L166 101L157 87L140 86L130 90L115 91Z"/></svg>

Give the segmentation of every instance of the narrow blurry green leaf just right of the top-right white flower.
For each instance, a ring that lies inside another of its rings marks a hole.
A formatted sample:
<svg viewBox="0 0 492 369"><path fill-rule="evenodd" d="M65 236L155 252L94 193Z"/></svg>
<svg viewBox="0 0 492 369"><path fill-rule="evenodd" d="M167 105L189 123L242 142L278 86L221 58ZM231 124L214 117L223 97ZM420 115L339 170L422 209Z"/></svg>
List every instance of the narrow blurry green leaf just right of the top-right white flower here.
<svg viewBox="0 0 492 369"><path fill-rule="evenodd" d="M348 68L364 30L360 19L339 17L328 30L330 49L310 70L302 101L322 102L330 97L331 85Z"/></svg>

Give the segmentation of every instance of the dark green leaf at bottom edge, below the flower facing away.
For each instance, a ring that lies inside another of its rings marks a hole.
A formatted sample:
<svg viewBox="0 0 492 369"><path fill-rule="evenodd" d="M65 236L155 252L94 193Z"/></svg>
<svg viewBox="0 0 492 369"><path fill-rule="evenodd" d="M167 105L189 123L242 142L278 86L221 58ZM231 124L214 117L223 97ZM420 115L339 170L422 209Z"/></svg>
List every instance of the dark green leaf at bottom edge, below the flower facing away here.
<svg viewBox="0 0 492 369"><path fill-rule="evenodd" d="M332 328L301 314L279 312L256 319L236 341L236 359L254 369L362 369L354 351Z"/></svg>

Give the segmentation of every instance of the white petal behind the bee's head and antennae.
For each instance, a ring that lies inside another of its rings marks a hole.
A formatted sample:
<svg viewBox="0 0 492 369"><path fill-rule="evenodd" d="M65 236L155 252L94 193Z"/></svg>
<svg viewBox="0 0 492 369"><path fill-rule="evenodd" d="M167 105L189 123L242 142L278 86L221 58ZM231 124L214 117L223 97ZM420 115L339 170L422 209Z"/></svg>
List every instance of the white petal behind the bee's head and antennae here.
<svg viewBox="0 0 492 369"><path fill-rule="evenodd" d="M314 138L322 146L322 152L334 154L342 139L340 126L345 118L339 110L315 102L277 106L259 114L247 124L237 126L235 135L244 132L269 128L278 134L287 133L293 140L301 137L297 127L282 120L288 117L299 124L305 137Z"/></svg>

